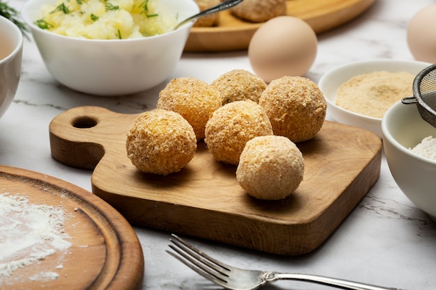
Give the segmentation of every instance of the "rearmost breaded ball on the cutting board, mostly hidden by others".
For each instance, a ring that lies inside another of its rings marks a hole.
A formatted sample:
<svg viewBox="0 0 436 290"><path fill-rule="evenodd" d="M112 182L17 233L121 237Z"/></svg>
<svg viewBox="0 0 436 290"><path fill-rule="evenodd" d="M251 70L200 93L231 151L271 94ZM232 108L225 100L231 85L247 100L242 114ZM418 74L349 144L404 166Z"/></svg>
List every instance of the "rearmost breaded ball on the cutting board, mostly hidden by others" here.
<svg viewBox="0 0 436 290"><path fill-rule="evenodd" d="M246 99L258 103L267 87L263 79L247 70L231 70L221 74L211 85L219 91L223 105Z"/></svg>

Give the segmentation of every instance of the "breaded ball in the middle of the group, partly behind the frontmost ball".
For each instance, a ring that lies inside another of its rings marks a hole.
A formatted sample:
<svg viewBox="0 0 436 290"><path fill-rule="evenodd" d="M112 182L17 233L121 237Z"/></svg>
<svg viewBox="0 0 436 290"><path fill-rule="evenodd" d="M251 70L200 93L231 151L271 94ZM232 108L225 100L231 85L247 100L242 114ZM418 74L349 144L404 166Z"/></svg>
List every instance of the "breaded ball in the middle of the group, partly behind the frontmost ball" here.
<svg viewBox="0 0 436 290"><path fill-rule="evenodd" d="M205 143L216 160L238 165L247 141L272 134L270 119L261 106L249 100L237 101L213 113L206 124Z"/></svg>

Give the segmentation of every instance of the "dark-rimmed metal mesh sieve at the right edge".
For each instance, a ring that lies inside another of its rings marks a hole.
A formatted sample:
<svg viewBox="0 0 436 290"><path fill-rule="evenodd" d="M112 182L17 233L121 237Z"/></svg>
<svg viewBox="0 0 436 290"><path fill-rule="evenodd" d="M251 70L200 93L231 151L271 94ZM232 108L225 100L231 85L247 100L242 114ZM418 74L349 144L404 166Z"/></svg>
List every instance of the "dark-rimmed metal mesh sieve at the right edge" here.
<svg viewBox="0 0 436 290"><path fill-rule="evenodd" d="M401 100L416 104L424 121L436 128L436 64L421 70L413 81L413 96Z"/></svg>

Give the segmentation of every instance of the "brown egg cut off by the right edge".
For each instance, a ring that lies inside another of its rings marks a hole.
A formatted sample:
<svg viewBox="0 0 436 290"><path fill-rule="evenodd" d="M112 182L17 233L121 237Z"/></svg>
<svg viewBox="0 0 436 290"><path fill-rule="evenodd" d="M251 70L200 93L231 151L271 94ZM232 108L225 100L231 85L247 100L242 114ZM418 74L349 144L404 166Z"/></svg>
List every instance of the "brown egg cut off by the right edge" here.
<svg viewBox="0 0 436 290"><path fill-rule="evenodd" d="M407 25L407 45L416 61L436 63L436 5L423 8Z"/></svg>

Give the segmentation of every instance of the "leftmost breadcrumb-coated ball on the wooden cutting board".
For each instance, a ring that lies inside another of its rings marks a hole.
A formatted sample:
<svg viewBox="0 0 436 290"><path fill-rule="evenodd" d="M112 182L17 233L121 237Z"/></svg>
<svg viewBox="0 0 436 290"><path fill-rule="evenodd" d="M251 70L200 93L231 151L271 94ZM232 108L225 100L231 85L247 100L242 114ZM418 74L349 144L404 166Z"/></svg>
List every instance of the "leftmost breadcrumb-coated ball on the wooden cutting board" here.
<svg viewBox="0 0 436 290"><path fill-rule="evenodd" d="M192 126L172 111L157 109L142 113L127 133L127 156L146 173L178 172L191 161L196 148Z"/></svg>

